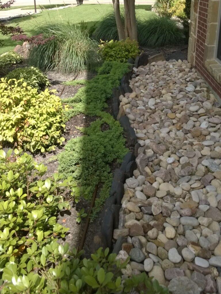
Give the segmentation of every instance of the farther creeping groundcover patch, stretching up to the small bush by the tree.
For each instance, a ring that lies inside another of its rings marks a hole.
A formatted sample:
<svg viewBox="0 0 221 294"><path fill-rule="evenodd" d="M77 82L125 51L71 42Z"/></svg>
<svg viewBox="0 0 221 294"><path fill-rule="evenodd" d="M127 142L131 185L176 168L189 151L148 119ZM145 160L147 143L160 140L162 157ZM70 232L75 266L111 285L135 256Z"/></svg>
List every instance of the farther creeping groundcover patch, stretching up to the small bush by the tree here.
<svg viewBox="0 0 221 294"><path fill-rule="evenodd" d="M98 74L80 88L74 97L63 99L72 108L67 111L67 119L79 114L94 116L107 106L106 100L112 95L113 87L120 84L120 79L129 72L128 64L118 61L105 61L98 69Z"/></svg>

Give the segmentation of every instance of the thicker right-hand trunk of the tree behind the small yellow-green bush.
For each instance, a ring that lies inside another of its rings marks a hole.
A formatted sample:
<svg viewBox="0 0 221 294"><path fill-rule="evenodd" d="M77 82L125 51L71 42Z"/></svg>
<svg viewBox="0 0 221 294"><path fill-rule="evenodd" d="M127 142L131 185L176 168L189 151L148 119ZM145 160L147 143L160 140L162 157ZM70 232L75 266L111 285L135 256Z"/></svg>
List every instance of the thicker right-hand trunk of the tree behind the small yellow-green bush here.
<svg viewBox="0 0 221 294"><path fill-rule="evenodd" d="M124 0L125 36L137 41L137 24L135 14L135 0Z"/></svg>

